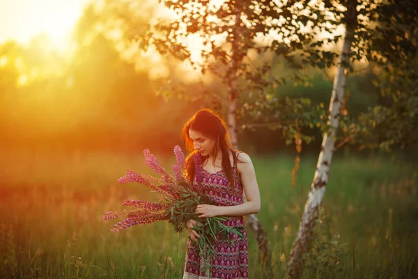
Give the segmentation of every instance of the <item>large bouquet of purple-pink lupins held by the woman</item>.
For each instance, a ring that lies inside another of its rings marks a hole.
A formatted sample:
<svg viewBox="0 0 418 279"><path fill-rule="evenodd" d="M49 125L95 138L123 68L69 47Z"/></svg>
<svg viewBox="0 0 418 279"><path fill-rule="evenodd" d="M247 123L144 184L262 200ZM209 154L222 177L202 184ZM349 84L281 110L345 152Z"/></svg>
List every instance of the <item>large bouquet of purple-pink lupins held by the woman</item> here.
<svg viewBox="0 0 418 279"><path fill-rule="evenodd" d="M203 259L201 269L209 274L210 258L215 256L215 247L212 242L221 236L224 240L231 240L231 233L242 237L241 227L229 227L222 224L221 221L229 220L226 217L199 218L194 213L199 204L216 204L208 195L203 193L199 187L195 187L192 181L186 176L185 156L180 146L174 147L176 164L171 169L174 175L166 172L160 166L157 158L150 153L148 149L144 150L145 163L161 177L155 177L148 174L137 174L128 170L125 176L118 179L118 183L137 182L148 187L153 192L159 194L157 202L148 202L143 200L127 199L123 202L125 206L132 206L134 209L123 210L122 212L109 211L102 216L103 220L114 218L125 218L114 225L111 232L119 232L122 229L133 225L150 224L156 221L168 220L173 225L174 232L181 233L189 219L196 220L199 227L193 229L201 236L197 244L199 254ZM201 157L194 154L195 180L201 181Z"/></svg>

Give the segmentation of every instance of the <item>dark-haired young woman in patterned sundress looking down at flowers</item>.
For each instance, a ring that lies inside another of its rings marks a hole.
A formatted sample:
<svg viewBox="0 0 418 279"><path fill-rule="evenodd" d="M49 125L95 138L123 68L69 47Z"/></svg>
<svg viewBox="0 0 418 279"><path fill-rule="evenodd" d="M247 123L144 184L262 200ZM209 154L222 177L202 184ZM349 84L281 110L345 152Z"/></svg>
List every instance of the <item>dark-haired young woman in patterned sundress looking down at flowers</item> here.
<svg viewBox="0 0 418 279"><path fill-rule="evenodd" d="M201 258L196 240L200 238L194 231L195 220L187 221L190 239L187 243L185 272L183 279L246 279L248 278L248 241L245 215L260 211L260 193L256 181L254 166L249 156L231 148L226 123L212 110L199 110L183 127L183 137L187 149L187 176L194 181L194 186L201 188L212 197L217 205L201 204L196 208L199 218L229 216L224 221L230 227L242 227L244 237L231 235L234 241L218 240L213 243L215 259L210 261L210 275L200 269ZM194 154L201 159L201 178L196 179ZM247 202L242 201L245 192ZM235 236L235 237L234 237Z"/></svg>

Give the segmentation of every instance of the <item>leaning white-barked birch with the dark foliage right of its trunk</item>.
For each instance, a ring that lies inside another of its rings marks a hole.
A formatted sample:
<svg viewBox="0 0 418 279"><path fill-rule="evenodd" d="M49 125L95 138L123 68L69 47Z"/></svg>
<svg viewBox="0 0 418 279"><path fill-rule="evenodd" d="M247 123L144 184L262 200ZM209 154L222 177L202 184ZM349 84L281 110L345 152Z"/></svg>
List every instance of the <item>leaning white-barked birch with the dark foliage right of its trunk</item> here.
<svg viewBox="0 0 418 279"><path fill-rule="evenodd" d="M341 5L345 8L342 16L338 8ZM410 40L410 34L416 33L418 26L415 6L410 1L380 3L355 0L325 2L325 6L336 18L342 18L341 23L346 28L346 33L339 68L334 78L327 131L286 266L285 276L290 278L300 277L304 255L309 251L312 232L318 219L318 207L327 186L332 153L337 147L337 135L344 138L342 144L362 142L362 147L380 147L387 150L393 145L410 147L411 142L417 138L417 130L414 128L417 124L417 91L413 89L416 80L414 66L417 61L417 43L416 40ZM351 62L361 59L367 59L379 69L384 79L375 83L382 87L383 96L392 97L392 102L390 107L370 107L369 112L353 119L345 108L346 75L353 70ZM407 70L407 64L412 68ZM387 84L388 81L390 85ZM338 130L339 126L341 128Z"/></svg>

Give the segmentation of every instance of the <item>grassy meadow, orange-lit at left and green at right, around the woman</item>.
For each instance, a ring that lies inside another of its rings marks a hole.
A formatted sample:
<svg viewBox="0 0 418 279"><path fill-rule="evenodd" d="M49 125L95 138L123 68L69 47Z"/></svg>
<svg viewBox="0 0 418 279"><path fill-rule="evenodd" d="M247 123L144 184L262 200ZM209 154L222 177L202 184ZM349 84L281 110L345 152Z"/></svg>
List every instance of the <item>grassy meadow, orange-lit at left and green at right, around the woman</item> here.
<svg viewBox="0 0 418 279"><path fill-rule="evenodd" d="M124 199L155 197L118 185L139 154L1 151L0 278L181 278L187 235L165 223L112 234L102 213ZM160 157L159 157L160 158ZM281 278L314 176L316 158L253 158L258 214ZM169 165L168 160L164 165ZM385 157L336 156L304 278L418 278L418 180L414 165ZM261 278L249 236L250 278Z"/></svg>

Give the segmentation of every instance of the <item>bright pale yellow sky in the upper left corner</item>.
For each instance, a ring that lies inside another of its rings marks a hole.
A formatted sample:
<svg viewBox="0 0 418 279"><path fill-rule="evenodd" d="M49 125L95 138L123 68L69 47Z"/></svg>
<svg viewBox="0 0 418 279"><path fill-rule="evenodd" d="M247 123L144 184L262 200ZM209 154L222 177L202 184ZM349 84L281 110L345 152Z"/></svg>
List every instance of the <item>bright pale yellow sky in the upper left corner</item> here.
<svg viewBox="0 0 418 279"><path fill-rule="evenodd" d="M63 47L88 0L0 0L0 43L46 33Z"/></svg>

